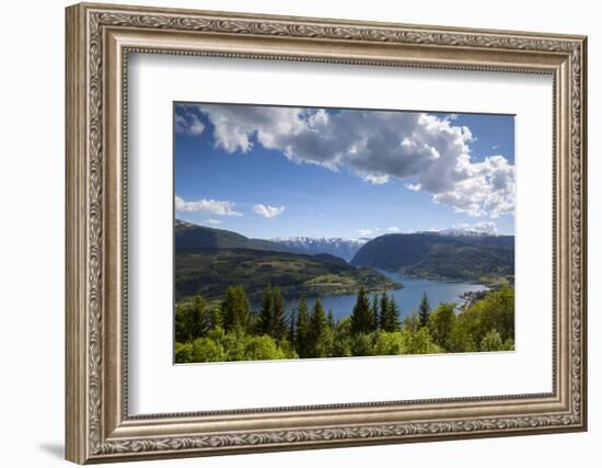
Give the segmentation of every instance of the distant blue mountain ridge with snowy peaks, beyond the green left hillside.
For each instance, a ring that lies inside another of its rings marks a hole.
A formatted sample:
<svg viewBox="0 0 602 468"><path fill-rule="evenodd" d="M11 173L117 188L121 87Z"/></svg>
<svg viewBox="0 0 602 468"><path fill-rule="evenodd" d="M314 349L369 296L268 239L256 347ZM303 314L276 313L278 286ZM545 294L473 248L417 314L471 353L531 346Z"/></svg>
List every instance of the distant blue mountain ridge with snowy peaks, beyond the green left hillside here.
<svg viewBox="0 0 602 468"><path fill-rule="evenodd" d="M175 250L244 249L349 262L356 267L402 272L424 278L513 284L514 237L461 228L387 233L371 240L343 238L251 239L238 232L175 221ZM235 255L234 255L235 256ZM234 256L229 256L231 261ZM299 265L306 265L301 261Z"/></svg>

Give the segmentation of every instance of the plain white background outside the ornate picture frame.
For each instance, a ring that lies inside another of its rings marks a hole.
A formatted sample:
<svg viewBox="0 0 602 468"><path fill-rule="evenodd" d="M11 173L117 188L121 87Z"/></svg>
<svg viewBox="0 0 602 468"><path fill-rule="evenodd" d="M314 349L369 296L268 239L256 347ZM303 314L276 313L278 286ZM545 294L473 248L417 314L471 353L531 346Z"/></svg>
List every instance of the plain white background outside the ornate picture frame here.
<svg viewBox="0 0 602 468"><path fill-rule="evenodd" d="M123 0L127 3L127 1ZM594 2L391 2L387 0L277 2L262 0L147 1L148 4L357 20L580 33L589 42L589 127L602 126L602 33ZM2 465L66 465L63 440L63 1L3 5L0 76L0 420ZM602 176L599 133L590 133L590 181ZM600 184L590 207L590 431L479 441L141 463L136 466L305 467L381 464L431 467L599 466L602 435L602 295ZM598 458L598 459L597 459Z"/></svg>

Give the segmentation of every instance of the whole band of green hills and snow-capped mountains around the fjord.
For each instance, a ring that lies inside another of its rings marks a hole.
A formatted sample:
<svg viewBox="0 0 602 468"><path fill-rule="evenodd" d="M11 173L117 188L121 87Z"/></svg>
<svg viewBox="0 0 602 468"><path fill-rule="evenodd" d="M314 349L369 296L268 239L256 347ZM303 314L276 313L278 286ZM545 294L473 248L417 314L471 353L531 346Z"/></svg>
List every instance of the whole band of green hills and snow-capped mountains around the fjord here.
<svg viewBox="0 0 602 468"><path fill-rule="evenodd" d="M175 289L219 298L242 284L255 300L266 284L285 297L354 294L402 287L379 272L429 279L513 284L514 237L450 229L378 238L252 239L224 229L175 221Z"/></svg>

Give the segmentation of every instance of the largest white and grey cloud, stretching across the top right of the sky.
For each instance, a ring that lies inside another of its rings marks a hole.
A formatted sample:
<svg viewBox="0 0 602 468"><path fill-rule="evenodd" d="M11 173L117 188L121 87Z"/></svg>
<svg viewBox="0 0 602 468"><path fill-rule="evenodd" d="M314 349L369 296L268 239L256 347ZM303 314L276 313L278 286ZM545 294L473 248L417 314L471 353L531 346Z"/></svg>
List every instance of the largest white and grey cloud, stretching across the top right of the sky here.
<svg viewBox="0 0 602 468"><path fill-rule="evenodd" d="M372 184L392 180L471 216L514 209L514 167L503 156L471 158L474 137L453 116L246 105L199 105L215 145L247 152L258 144L297 163L348 170Z"/></svg>

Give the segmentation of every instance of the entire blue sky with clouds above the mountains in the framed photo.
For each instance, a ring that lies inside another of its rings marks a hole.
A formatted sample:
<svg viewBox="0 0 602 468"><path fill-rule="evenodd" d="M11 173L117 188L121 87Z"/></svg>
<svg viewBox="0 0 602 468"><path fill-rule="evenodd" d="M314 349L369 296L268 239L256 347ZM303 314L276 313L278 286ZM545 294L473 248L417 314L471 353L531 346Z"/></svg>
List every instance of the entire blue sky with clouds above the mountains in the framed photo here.
<svg viewBox="0 0 602 468"><path fill-rule="evenodd" d="M513 233L508 115L174 105L176 218L253 238Z"/></svg>

